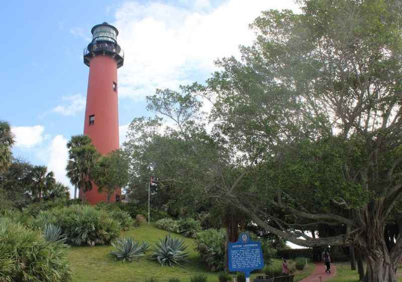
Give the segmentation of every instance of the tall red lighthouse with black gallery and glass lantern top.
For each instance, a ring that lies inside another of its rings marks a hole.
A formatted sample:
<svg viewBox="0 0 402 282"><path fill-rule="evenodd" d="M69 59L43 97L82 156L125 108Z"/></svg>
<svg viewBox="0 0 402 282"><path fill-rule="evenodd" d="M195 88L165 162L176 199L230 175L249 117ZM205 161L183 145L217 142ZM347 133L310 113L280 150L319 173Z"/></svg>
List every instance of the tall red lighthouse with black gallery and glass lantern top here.
<svg viewBox="0 0 402 282"><path fill-rule="evenodd" d="M119 149L119 114L117 69L123 66L124 52L117 44L119 31L108 23L91 30L92 41L84 49L84 64L89 67L86 94L84 134L100 154ZM111 200L120 195L116 190ZM81 194L81 193L80 193ZM80 195L81 196L81 195ZM85 193L90 204L107 201L106 193L99 193L95 185Z"/></svg>

